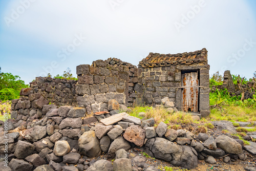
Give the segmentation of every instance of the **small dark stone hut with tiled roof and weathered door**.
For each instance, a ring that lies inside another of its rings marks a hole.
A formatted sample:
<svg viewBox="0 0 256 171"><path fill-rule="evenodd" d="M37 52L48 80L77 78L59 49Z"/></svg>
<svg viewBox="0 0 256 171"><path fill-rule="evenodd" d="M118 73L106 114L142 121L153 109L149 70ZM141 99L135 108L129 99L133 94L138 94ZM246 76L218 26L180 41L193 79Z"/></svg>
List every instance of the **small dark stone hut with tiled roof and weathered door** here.
<svg viewBox="0 0 256 171"><path fill-rule="evenodd" d="M208 116L209 69L207 50L178 54L150 53L139 62L146 104L169 97L184 112Z"/></svg>

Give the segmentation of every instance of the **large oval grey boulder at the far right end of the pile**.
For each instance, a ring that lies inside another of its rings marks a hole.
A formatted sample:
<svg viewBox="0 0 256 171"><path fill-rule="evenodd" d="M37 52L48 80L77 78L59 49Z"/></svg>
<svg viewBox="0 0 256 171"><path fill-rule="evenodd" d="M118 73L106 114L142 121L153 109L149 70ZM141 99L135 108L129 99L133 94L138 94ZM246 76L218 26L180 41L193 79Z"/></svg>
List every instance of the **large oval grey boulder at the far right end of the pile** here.
<svg viewBox="0 0 256 171"><path fill-rule="evenodd" d="M228 136L222 135L215 139L217 147L223 149L223 151L232 154L242 153L242 145L236 140L229 138Z"/></svg>

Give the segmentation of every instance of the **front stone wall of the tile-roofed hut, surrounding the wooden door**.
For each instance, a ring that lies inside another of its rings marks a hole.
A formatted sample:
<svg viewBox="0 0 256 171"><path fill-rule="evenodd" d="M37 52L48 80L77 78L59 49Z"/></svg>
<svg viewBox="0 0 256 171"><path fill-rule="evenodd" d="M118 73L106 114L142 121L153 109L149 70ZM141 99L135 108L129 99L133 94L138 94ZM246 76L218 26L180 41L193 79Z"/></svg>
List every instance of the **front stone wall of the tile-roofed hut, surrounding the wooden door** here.
<svg viewBox="0 0 256 171"><path fill-rule="evenodd" d="M192 65L176 65L141 68L142 84L144 85L144 102L160 104L161 99L168 97L181 110L181 71L199 71L199 111L202 116L209 115L209 65L202 63Z"/></svg>

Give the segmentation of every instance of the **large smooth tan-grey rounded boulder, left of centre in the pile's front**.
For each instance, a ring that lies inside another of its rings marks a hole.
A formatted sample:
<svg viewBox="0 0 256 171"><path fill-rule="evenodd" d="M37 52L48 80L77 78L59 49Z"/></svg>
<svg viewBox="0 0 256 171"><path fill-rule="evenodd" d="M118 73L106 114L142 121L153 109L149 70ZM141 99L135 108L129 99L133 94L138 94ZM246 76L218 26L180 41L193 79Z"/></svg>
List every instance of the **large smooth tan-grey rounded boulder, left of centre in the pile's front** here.
<svg viewBox="0 0 256 171"><path fill-rule="evenodd" d="M78 139L79 152L81 155L94 158L101 155L99 139L94 131L88 131L81 135Z"/></svg>

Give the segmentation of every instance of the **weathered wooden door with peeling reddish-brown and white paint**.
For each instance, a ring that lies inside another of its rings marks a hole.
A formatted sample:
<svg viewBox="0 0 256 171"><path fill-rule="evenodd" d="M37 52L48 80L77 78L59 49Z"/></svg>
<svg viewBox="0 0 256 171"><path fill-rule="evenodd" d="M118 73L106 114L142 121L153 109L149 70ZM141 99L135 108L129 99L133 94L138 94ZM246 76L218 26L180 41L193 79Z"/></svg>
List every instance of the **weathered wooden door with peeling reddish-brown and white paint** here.
<svg viewBox="0 0 256 171"><path fill-rule="evenodd" d="M198 112L199 81L198 72L189 72L181 75L182 111Z"/></svg>

